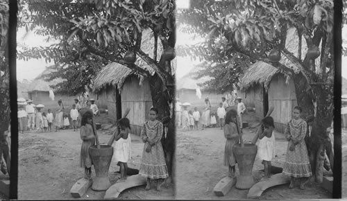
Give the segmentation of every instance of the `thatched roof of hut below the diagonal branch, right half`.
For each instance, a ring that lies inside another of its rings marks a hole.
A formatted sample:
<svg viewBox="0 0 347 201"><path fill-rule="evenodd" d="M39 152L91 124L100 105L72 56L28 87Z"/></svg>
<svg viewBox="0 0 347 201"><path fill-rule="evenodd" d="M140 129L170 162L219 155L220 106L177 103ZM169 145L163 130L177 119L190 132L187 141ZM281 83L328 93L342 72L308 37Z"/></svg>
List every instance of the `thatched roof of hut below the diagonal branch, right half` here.
<svg viewBox="0 0 347 201"><path fill-rule="evenodd" d="M264 87L267 89L272 77L278 72L278 69L271 66L271 64L262 61L255 62L242 76L240 89L244 91L257 84L264 84Z"/></svg>

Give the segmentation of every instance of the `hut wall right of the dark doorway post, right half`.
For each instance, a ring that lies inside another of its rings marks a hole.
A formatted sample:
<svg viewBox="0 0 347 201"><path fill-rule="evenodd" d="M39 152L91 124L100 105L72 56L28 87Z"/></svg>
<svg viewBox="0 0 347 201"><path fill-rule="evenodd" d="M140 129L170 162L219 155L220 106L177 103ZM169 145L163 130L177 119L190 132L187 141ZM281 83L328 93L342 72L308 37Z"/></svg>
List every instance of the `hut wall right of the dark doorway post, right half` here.
<svg viewBox="0 0 347 201"><path fill-rule="evenodd" d="M297 105L294 82L289 79L285 83L285 79L285 76L278 74L272 78L269 86L269 107L275 107L271 116L279 132L285 131L291 112Z"/></svg>

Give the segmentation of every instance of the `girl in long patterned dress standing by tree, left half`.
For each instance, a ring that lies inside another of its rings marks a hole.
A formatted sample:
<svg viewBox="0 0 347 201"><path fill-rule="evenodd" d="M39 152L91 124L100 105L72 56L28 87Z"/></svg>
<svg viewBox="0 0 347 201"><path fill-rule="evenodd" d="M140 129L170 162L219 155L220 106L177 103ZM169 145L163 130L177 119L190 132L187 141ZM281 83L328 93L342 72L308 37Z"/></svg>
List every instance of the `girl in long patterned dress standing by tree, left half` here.
<svg viewBox="0 0 347 201"><path fill-rule="evenodd" d="M149 120L144 123L141 131L141 138L144 141L141 166L139 174L147 178L146 191L151 189L151 180L157 180L157 191L161 191L160 180L169 177L167 165L165 163L164 150L162 149L162 123L156 120L158 110L152 107L149 110Z"/></svg>

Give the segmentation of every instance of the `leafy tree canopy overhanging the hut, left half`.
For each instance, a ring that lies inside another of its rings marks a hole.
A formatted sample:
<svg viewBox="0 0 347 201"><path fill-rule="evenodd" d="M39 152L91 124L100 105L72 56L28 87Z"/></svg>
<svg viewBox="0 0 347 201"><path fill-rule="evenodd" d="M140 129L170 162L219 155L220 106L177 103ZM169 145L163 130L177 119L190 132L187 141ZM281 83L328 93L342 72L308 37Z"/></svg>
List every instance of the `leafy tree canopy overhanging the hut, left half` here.
<svg viewBox="0 0 347 201"><path fill-rule="evenodd" d="M174 47L174 8L174 1L20 1L18 26L58 40L58 44L24 48L17 55L19 60L53 60L58 71L46 79L65 78L56 88L65 88L69 94L81 92L84 86L80 85L90 85L90 78L108 62L124 64L148 76L142 68L124 62L124 53L129 50L167 82L171 72L159 68L157 54L150 58L140 44L142 30L150 28L164 49Z"/></svg>

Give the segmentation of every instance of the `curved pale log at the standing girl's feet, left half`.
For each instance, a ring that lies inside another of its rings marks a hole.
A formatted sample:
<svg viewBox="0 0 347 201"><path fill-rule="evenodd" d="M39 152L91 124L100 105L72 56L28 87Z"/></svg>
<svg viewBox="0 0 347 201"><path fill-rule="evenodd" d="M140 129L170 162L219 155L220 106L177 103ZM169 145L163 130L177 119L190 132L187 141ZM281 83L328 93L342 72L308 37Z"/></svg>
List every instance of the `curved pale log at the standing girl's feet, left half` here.
<svg viewBox="0 0 347 201"><path fill-rule="evenodd" d="M146 184L146 178L141 175L129 176L124 182L119 182L110 186L110 188L105 193L105 199L115 199L118 198L122 191L135 187L142 186Z"/></svg>

